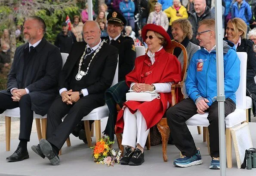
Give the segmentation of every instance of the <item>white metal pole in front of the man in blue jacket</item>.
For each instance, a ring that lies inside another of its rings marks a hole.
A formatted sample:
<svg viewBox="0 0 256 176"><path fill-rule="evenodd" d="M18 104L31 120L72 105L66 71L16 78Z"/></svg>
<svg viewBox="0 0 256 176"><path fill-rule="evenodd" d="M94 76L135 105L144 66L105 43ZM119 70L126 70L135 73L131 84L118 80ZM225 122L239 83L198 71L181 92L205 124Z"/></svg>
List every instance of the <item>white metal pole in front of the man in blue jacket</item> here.
<svg viewBox="0 0 256 176"><path fill-rule="evenodd" d="M217 70L217 101L219 116L219 157L220 176L226 175L226 140L224 116L224 64L223 64L223 31L222 31L222 1L215 0L215 32L216 32L216 70Z"/></svg>

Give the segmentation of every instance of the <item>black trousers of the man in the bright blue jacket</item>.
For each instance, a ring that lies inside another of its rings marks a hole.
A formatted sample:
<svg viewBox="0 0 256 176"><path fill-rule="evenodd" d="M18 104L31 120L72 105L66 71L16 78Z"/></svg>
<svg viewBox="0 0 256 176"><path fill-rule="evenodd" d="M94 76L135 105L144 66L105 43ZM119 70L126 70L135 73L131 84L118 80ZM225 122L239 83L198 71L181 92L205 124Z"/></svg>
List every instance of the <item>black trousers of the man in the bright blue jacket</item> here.
<svg viewBox="0 0 256 176"><path fill-rule="evenodd" d="M225 100L225 117L234 112L235 103L227 98ZM210 153L211 157L219 157L219 119L218 119L218 102L215 101L209 109L207 119L210 134ZM170 107L167 112L167 122L173 136L175 146L187 157L193 156L197 152L193 137L188 130L185 121L197 114L197 107L191 98L182 100L175 106Z"/></svg>

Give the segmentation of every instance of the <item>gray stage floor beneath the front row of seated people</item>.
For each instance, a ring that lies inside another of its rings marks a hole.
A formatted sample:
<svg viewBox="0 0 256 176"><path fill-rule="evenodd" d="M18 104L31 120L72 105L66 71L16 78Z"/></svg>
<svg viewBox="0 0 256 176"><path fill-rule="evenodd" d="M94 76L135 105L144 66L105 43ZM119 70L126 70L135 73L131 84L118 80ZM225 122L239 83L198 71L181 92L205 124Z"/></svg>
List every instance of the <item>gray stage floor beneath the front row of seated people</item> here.
<svg viewBox="0 0 256 176"><path fill-rule="evenodd" d="M5 142L0 142L0 176L22 175L22 176L157 176L161 175L186 175L186 176L216 176L219 170L210 170L210 156L207 152L206 143L203 142L203 135L197 134L196 127L190 127L197 147L203 157L203 164L188 168L173 166L173 160L179 157L179 151L173 145L168 145L168 162L163 162L162 146L152 146L151 150L145 150L145 163L141 166L124 166L115 164L114 167L107 167L103 164L96 164L91 158L92 150L87 145L71 136L71 146L66 144L62 148L60 156L61 164L52 166L47 159L36 155L31 146L38 143L37 134L31 134L31 142L28 143L30 158L20 162L7 162L5 158L14 152L19 140L11 140L11 151L5 151ZM253 139L253 146L256 146L256 123L250 123L250 131ZM95 138L93 138L95 142ZM117 144L114 144L117 148ZM256 169L237 169L233 148L233 168L226 169L227 176L255 176Z"/></svg>

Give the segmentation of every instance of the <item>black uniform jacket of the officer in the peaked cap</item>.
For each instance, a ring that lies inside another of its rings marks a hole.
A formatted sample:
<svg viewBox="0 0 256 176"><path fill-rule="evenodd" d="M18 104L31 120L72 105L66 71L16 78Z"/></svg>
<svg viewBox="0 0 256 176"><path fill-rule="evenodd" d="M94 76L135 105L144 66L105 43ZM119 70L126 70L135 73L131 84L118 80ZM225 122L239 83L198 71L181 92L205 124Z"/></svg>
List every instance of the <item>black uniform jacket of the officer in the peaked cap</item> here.
<svg viewBox="0 0 256 176"><path fill-rule="evenodd" d="M109 43L109 37L102 38ZM112 43L118 49L118 82L125 80L125 76L133 70L134 61L136 58L136 50L134 41L131 37L120 35L118 39Z"/></svg>

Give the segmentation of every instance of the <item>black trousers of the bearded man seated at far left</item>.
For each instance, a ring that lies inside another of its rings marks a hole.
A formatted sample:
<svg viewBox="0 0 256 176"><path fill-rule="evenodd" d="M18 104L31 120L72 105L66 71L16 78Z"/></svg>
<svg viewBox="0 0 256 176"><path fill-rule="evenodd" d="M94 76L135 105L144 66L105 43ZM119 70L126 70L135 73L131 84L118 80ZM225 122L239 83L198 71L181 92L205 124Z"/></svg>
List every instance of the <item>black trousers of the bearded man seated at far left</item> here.
<svg viewBox="0 0 256 176"><path fill-rule="evenodd" d="M31 110L31 97L25 94L19 102L13 101L12 97L0 93L0 114L6 109L20 108L20 130L19 140L30 140L31 128L33 123L33 111Z"/></svg>

